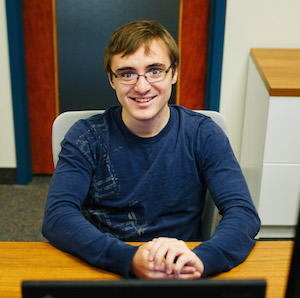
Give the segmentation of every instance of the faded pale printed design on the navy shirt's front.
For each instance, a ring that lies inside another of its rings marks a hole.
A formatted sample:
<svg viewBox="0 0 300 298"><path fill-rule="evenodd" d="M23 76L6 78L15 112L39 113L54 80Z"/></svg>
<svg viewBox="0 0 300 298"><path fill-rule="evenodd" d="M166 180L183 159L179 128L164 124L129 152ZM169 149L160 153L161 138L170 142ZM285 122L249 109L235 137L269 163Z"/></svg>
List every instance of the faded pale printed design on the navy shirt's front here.
<svg viewBox="0 0 300 298"><path fill-rule="evenodd" d="M99 179L97 175L93 176L89 196L81 212L103 233L111 233L121 240L137 238L145 233L148 226L145 212L137 199L123 204L112 202L113 198L119 197L120 185L106 144L95 137L99 129L106 130L106 123L91 125L91 129L77 140L81 153L94 169L101 168L101 177L103 177L103 179ZM99 151L96 150L97 146L101 146ZM113 152L122 149L122 147L118 147ZM101 156L96 156L99 152L101 152ZM95 160L98 160L97 166ZM105 207L105 202L108 200L110 207Z"/></svg>

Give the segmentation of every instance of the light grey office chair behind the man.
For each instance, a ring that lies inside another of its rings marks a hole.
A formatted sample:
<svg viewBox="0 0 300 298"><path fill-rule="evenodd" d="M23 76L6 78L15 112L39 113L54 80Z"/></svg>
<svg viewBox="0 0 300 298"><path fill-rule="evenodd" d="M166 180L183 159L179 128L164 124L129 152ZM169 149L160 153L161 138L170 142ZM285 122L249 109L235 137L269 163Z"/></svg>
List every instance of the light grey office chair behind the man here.
<svg viewBox="0 0 300 298"><path fill-rule="evenodd" d="M80 119L86 119L95 114L102 114L103 112L104 110L69 111L60 114L55 119L52 126L52 154L54 167L56 167L58 155L61 151L60 143L64 139L64 136L70 127ZM207 110L197 110L196 112L209 116L222 128L224 133L227 134L227 122L223 115L215 111ZM211 237L219 221L220 216L218 215L218 210L209 191L207 191L205 207L202 215L203 240L208 240Z"/></svg>

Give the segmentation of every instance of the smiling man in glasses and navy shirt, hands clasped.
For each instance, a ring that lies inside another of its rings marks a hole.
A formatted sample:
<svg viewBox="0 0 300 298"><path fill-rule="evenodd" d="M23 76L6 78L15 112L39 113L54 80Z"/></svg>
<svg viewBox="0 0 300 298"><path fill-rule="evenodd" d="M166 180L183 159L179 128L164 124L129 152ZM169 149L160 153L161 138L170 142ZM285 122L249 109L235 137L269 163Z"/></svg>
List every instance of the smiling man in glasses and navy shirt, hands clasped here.
<svg viewBox="0 0 300 298"><path fill-rule="evenodd" d="M155 21L112 35L103 64L121 107L77 122L62 142L43 224L57 248L153 279L230 270L251 251L260 220L228 139L210 118L168 105L178 63ZM207 188L223 217L192 251L184 241L202 240Z"/></svg>

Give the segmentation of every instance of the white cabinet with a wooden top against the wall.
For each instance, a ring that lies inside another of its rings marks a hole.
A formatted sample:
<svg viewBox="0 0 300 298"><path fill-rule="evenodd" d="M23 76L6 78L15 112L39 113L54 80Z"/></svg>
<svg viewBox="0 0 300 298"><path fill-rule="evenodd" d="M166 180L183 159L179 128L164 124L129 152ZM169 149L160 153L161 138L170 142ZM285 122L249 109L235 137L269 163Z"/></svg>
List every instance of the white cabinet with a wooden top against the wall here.
<svg viewBox="0 0 300 298"><path fill-rule="evenodd" d="M300 50L252 49L240 164L262 221L258 237L294 237L300 201Z"/></svg>

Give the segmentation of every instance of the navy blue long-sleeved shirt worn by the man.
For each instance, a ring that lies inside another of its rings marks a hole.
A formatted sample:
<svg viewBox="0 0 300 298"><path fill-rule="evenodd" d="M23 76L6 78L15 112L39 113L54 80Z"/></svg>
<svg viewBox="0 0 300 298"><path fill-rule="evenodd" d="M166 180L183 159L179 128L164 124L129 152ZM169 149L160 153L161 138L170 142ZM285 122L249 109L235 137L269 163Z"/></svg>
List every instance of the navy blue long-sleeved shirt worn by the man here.
<svg viewBox="0 0 300 298"><path fill-rule="evenodd" d="M54 246L128 277L137 247L125 241L202 240L208 187L223 217L213 237L194 249L204 276L248 256L260 220L227 137L204 115L170 109L168 124L151 138L127 129L121 107L72 126L43 223Z"/></svg>

